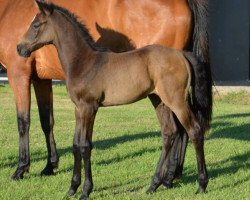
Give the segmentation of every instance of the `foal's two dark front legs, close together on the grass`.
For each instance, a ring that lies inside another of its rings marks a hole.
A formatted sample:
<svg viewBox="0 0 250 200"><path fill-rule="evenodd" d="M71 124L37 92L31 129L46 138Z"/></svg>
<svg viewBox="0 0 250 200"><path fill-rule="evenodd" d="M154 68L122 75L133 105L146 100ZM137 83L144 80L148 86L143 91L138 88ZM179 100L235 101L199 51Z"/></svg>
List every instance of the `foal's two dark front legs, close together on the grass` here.
<svg viewBox="0 0 250 200"><path fill-rule="evenodd" d="M76 130L73 141L74 172L68 195L75 194L81 184L81 158L84 162L84 186L80 199L87 199L93 189L91 172L92 133L97 106L81 103L75 109Z"/></svg>

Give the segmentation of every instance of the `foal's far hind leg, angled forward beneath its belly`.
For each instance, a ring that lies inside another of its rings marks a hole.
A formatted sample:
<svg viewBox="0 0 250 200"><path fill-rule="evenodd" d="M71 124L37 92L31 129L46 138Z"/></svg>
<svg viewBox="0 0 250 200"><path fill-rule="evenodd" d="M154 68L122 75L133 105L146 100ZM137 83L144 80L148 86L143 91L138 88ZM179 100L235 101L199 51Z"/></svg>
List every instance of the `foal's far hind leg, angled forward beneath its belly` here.
<svg viewBox="0 0 250 200"><path fill-rule="evenodd" d="M176 158L176 152L174 152L176 149L173 149L172 146L174 145L178 147L181 137L178 134L178 128L175 124L174 116L171 110L164 105L157 95L149 95L149 99L156 110L156 114L161 125L161 134L163 138L161 156L151 185L147 191L151 193L154 192L161 184L168 188L172 187L172 181L174 179L178 162L178 158ZM169 151L171 151L171 154ZM168 175L167 180L164 179L166 173Z"/></svg>

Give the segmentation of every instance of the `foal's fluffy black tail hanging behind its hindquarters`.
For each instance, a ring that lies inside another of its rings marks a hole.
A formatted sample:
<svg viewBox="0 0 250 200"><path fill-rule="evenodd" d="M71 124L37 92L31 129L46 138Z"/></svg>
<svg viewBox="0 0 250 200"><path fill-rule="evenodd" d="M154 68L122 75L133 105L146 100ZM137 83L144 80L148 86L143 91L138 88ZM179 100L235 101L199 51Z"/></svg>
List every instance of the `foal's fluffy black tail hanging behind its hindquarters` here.
<svg viewBox="0 0 250 200"><path fill-rule="evenodd" d="M206 131L210 127L212 117L212 77L210 67L199 61L191 52L183 53L189 61L191 70L192 94L189 105L199 120L201 128Z"/></svg>

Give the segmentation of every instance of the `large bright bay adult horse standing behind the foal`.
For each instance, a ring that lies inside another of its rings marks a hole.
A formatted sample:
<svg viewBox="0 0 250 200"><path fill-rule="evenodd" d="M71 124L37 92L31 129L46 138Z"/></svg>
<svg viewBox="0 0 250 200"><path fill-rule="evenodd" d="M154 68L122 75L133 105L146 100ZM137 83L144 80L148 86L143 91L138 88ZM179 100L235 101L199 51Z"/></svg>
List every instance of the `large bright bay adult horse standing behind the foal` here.
<svg viewBox="0 0 250 200"><path fill-rule="evenodd" d="M76 13L84 20L94 40L113 51L126 51L155 43L177 49L193 49L201 61L208 62L205 0L110 0L109 2L54 0L53 2ZM20 144L19 162L13 179L22 178L30 166L31 82L34 85L48 150L47 165L41 173L53 174L53 169L57 167L59 161L53 137L51 79L63 80L65 76L56 51L51 46L44 47L33 53L30 58L20 58L16 52L16 44L27 30L35 12L32 0L1 0L0 62L7 68L15 96ZM175 138L170 162L163 146L151 191L161 183L170 187L174 176L181 174L187 144L186 133L181 127L177 127L175 118L168 108L161 102L155 106L157 115L164 116L163 120L160 120L162 133L180 131L180 134ZM165 175L167 165L168 172Z"/></svg>

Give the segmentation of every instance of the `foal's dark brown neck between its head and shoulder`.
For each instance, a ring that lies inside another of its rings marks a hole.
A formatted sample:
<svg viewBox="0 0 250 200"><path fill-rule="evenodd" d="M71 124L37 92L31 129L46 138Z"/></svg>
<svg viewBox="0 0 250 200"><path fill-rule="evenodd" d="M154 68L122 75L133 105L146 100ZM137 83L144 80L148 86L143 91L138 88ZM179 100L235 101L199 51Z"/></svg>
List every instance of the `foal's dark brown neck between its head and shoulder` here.
<svg viewBox="0 0 250 200"><path fill-rule="evenodd" d="M84 70L84 66L79 66L79 64L87 64L96 53L71 19L59 11L55 14L53 19L56 32L54 45L67 78L74 68L81 67Z"/></svg>

